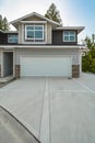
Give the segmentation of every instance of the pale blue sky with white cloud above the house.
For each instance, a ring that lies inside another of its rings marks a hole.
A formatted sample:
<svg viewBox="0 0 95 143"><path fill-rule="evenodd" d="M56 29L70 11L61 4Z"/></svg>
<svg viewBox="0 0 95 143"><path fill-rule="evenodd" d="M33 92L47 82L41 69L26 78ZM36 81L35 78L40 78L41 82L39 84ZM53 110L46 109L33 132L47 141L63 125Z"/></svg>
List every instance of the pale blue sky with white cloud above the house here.
<svg viewBox="0 0 95 143"><path fill-rule="evenodd" d="M52 2L64 26L85 26L80 40L95 34L95 0L0 0L0 14L9 22L32 12L45 15Z"/></svg>

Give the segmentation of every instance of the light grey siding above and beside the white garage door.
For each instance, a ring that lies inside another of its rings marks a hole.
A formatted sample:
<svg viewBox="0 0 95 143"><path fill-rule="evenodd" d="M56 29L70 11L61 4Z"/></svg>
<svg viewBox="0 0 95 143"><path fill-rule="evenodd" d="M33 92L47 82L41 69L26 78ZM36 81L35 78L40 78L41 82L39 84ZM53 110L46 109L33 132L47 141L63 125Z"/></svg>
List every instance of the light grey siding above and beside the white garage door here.
<svg viewBox="0 0 95 143"><path fill-rule="evenodd" d="M20 64L20 56L72 56L73 65L79 64L79 50L16 50L16 65Z"/></svg>

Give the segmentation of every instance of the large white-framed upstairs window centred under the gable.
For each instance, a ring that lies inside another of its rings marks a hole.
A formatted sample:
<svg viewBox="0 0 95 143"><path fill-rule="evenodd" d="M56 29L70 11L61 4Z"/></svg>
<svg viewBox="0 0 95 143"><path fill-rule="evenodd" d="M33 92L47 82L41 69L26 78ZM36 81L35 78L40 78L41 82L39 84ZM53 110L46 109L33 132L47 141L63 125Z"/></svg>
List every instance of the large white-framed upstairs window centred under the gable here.
<svg viewBox="0 0 95 143"><path fill-rule="evenodd" d="M26 25L25 40L32 40L33 42L44 41L44 25Z"/></svg>

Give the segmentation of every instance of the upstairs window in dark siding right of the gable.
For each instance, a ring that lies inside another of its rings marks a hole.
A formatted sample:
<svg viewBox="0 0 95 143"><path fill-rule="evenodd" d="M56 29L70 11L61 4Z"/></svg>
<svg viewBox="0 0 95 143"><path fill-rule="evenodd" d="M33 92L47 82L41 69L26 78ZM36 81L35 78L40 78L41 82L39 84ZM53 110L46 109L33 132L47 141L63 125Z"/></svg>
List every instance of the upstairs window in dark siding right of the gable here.
<svg viewBox="0 0 95 143"><path fill-rule="evenodd" d="M64 31L63 42L75 42L75 31Z"/></svg>

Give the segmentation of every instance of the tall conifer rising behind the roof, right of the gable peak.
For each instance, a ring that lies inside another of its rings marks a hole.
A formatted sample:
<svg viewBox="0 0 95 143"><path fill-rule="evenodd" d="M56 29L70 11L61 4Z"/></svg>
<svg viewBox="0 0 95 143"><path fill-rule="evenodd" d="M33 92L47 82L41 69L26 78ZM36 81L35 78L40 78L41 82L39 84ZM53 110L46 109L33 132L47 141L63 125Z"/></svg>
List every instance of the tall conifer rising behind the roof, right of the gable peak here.
<svg viewBox="0 0 95 143"><path fill-rule="evenodd" d="M60 12L59 12L59 10L57 10L57 7L56 7L55 3L51 3L51 6L47 10L47 13L45 14L45 16L50 19L50 20L58 22L60 24L60 26L62 25Z"/></svg>

